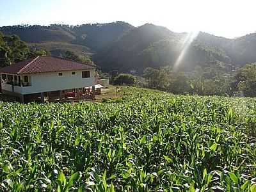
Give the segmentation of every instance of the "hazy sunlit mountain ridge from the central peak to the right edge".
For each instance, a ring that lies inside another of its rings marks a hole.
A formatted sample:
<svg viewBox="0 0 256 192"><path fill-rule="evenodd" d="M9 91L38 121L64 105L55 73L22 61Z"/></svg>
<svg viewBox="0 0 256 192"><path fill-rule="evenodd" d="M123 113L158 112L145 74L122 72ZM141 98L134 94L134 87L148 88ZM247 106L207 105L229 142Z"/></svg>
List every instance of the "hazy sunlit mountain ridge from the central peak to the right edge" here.
<svg viewBox="0 0 256 192"><path fill-rule="evenodd" d="M256 33L228 39L199 32L189 40L189 33L174 33L152 24L145 26L132 29L95 54L94 60L105 70L139 72L146 67L165 65L190 71L197 65L207 67L219 63L232 70L256 61Z"/></svg>

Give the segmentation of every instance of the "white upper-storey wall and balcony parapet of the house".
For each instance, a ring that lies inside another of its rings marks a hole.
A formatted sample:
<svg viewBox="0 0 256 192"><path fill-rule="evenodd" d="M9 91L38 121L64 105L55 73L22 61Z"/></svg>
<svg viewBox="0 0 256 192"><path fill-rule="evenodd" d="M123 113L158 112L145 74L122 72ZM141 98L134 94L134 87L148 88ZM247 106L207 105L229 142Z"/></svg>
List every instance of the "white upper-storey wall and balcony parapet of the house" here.
<svg viewBox="0 0 256 192"><path fill-rule="evenodd" d="M90 71L90 77L82 78L82 71ZM76 72L72 75L72 72ZM52 92L58 90L68 90L72 88L83 88L95 84L95 70L72 70L61 72L44 72L40 74L31 74L31 86L14 86L14 92L22 95ZM12 85L2 83L2 89L12 92Z"/></svg>

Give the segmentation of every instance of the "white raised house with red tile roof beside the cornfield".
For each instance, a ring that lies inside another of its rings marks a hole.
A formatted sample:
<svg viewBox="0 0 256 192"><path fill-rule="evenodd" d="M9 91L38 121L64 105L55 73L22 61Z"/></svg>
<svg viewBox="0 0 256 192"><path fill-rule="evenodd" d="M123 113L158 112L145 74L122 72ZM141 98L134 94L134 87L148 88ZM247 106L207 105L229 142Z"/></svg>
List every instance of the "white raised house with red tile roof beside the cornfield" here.
<svg viewBox="0 0 256 192"><path fill-rule="evenodd" d="M0 68L3 93L20 97L94 86L95 66L53 56L38 56Z"/></svg>

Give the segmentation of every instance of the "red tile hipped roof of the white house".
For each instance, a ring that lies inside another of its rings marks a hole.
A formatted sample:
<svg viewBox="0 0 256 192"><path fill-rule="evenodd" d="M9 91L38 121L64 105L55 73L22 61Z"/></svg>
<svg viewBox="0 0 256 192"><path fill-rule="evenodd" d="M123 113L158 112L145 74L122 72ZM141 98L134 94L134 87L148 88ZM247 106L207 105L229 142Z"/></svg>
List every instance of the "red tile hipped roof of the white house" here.
<svg viewBox="0 0 256 192"><path fill-rule="evenodd" d="M9 74L35 74L42 72L61 72L65 70L88 70L94 65L65 60L53 56L38 56L26 61L0 68L0 72Z"/></svg>

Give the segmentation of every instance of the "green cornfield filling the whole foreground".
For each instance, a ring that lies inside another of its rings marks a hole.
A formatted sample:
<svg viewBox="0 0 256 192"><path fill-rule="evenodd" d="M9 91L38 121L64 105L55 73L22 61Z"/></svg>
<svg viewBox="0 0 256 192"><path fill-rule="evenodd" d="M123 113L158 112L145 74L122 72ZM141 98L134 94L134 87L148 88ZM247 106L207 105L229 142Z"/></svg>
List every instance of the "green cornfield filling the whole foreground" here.
<svg viewBox="0 0 256 192"><path fill-rule="evenodd" d="M0 102L0 191L256 191L256 99L122 92Z"/></svg>

